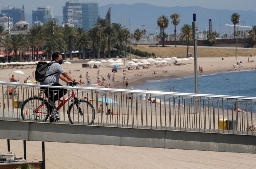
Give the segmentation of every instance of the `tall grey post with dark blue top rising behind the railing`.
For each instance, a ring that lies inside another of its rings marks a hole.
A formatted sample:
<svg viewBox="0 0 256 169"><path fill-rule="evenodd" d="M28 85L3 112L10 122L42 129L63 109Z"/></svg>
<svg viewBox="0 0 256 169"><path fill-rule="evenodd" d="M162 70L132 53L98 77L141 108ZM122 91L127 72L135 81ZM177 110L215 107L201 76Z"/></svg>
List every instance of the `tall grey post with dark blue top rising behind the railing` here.
<svg viewBox="0 0 256 169"><path fill-rule="evenodd" d="M195 93L198 93L198 87L197 87L197 22L196 22L196 14L193 14L193 23L192 23L192 29L193 29L193 40L194 40L194 54L195 54Z"/></svg>

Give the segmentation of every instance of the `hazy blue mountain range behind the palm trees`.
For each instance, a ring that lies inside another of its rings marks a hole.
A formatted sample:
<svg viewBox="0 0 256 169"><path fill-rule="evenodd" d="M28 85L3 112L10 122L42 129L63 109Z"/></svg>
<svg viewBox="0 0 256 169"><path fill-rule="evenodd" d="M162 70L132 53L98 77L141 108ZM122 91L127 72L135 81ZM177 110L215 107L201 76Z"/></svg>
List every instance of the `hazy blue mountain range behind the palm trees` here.
<svg viewBox="0 0 256 169"><path fill-rule="evenodd" d="M121 16L123 14L123 23L125 28L129 28L129 18L131 18L131 29L132 32L139 28L139 29L145 29L147 33L159 33L159 27L156 27L156 21L157 18L159 18L162 15L165 15L169 18L169 26L165 29L166 33L173 33L174 32L174 26L171 24L172 19L170 18L170 15L172 13L178 13L180 14L180 24L177 26L177 33L179 33L179 29L184 24L190 24L192 25L193 21L193 13L196 13L196 21L198 22L198 29L199 31L205 30L205 21L207 22L207 30L209 29L208 25L208 19L212 19L212 31L220 31L221 26L221 32L228 34L229 31L233 32L233 27L225 26L225 24L233 25L233 23L230 20L230 16L237 12L240 15L240 23L239 25L244 26L252 26L256 25L256 12L255 11L242 11L242 10L236 10L236 11L229 11L229 10L215 10L215 9L207 9L202 8L199 6L189 6L189 7L161 7L161 3L159 3L160 6L154 6L151 4L144 4L144 3L136 3L132 5L127 4L108 4L105 6L101 6L99 8L99 15L100 18L105 18L108 9L111 8L111 22L112 23L121 23ZM32 23L32 15L26 13L26 20L30 24ZM63 16L55 16L56 18L59 18L60 23L62 22ZM242 21L245 21L244 23ZM144 25L144 26L142 26ZM240 28L243 30L243 28Z"/></svg>

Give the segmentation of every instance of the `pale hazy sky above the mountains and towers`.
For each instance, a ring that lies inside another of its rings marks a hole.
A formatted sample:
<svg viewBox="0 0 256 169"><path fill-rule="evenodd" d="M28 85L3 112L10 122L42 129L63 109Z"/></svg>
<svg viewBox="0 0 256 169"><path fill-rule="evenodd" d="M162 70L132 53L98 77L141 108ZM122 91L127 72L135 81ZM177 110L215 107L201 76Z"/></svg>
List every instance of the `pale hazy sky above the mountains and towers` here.
<svg viewBox="0 0 256 169"><path fill-rule="evenodd" d="M55 15L62 15L62 6L65 6L65 2L68 0L0 0L0 8L6 7L6 4L10 4L13 7L21 8L25 5L25 12L32 13L32 10L36 10L37 7L43 7L46 5L54 7ZM75 0L76 1L76 0ZM78 0L78 2L90 2L90 0ZM201 6L211 9L225 9L225 10L255 10L256 0L94 0L99 3L100 6L107 4L134 4L134 3L148 3L156 6ZM175 2L175 3L174 3Z"/></svg>

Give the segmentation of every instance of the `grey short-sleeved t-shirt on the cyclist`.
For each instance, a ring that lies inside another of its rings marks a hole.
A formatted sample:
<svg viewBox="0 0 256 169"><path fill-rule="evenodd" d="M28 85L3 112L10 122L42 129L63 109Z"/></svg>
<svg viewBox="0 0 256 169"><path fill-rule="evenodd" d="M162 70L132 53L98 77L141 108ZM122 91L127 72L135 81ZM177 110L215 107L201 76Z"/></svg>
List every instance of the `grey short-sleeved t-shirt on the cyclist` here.
<svg viewBox="0 0 256 169"><path fill-rule="evenodd" d="M62 73L65 73L66 71L61 67L61 65L55 61L51 62L52 64L48 67L45 76L49 74L53 74L55 72L58 72L56 74L53 74L51 76L48 76L43 82L40 82L41 85L52 85L53 83L59 83L59 76Z"/></svg>

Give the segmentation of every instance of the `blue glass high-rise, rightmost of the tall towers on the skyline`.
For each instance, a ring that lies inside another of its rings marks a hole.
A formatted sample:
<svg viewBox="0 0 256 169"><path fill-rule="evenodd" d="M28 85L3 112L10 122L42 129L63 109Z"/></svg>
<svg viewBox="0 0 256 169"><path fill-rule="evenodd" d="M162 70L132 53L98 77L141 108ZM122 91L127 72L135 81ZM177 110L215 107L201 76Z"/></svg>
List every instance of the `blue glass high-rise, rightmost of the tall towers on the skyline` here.
<svg viewBox="0 0 256 169"><path fill-rule="evenodd" d="M85 31L91 29L96 23L99 16L98 3L82 3L83 28Z"/></svg>

